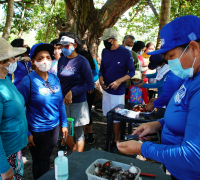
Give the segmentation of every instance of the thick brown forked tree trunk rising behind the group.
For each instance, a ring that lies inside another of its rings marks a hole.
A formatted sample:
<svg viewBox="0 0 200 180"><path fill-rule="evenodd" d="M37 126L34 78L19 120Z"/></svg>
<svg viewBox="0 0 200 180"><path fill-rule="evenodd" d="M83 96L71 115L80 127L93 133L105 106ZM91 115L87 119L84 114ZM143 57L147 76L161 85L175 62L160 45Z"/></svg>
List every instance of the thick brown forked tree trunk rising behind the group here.
<svg viewBox="0 0 200 180"><path fill-rule="evenodd" d="M67 21L58 19L57 28L61 32L70 31L81 39L86 39L90 52L98 59L98 38L106 28L113 27L120 16L139 1L107 0L101 9L95 9L93 0L65 0Z"/></svg>

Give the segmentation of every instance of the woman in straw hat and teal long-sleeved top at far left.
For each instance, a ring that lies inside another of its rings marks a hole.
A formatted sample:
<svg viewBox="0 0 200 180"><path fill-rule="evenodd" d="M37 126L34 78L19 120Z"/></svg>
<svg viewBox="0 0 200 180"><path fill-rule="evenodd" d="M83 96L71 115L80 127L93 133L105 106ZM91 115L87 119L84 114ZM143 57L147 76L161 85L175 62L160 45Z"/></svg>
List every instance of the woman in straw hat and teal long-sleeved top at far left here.
<svg viewBox="0 0 200 180"><path fill-rule="evenodd" d="M0 179L3 180L23 177L21 149L28 143L25 103L7 74L17 67L14 56L25 51L0 38Z"/></svg>

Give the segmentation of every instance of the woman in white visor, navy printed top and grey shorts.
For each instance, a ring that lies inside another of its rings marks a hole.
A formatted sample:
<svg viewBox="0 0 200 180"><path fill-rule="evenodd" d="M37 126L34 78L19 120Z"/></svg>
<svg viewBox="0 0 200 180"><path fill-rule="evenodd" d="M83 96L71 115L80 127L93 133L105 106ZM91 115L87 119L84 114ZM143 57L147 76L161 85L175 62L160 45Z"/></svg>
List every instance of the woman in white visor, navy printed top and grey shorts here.
<svg viewBox="0 0 200 180"><path fill-rule="evenodd" d="M68 117L74 119L74 134L66 143L72 151L82 152L85 145L83 126L89 123L89 109L86 92L94 89L94 80L87 59L79 55L82 51L80 39L74 33L63 32L59 36L62 56L58 61L58 77L66 104Z"/></svg>

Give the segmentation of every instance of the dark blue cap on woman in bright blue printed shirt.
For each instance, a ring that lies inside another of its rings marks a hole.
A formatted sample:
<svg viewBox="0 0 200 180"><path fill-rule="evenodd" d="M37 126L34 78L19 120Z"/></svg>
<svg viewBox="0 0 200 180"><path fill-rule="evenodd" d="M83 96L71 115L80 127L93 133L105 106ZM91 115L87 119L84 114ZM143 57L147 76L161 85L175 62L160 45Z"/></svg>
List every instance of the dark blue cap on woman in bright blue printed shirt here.
<svg viewBox="0 0 200 180"><path fill-rule="evenodd" d="M33 45L30 51L30 58L33 59L35 55L40 51L48 51L51 58L53 59L54 46L52 44L38 43Z"/></svg>

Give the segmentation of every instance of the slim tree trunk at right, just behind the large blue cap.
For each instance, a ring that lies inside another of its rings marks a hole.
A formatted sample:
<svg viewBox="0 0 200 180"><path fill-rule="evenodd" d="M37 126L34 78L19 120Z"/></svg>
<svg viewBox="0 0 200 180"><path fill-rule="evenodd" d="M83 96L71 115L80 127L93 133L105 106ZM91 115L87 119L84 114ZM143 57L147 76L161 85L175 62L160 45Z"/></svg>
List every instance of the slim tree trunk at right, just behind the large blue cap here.
<svg viewBox="0 0 200 180"><path fill-rule="evenodd" d="M159 25L159 32L157 38L156 49L160 49L161 42L160 42L160 30L164 25L170 22L170 13L171 13L171 0L162 0L161 2L161 15L160 15L160 25Z"/></svg>

